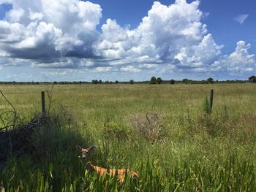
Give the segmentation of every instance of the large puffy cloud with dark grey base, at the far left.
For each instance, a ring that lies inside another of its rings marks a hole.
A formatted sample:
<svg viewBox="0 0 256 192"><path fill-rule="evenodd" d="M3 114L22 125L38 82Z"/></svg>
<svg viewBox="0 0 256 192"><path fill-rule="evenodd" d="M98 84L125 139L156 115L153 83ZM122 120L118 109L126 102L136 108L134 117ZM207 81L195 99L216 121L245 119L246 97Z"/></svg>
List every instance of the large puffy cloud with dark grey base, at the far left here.
<svg viewBox="0 0 256 192"><path fill-rule="evenodd" d="M93 58L92 48L102 15L98 4L77 0L9 1L0 21L0 47L13 58L38 62L62 57Z"/></svg>

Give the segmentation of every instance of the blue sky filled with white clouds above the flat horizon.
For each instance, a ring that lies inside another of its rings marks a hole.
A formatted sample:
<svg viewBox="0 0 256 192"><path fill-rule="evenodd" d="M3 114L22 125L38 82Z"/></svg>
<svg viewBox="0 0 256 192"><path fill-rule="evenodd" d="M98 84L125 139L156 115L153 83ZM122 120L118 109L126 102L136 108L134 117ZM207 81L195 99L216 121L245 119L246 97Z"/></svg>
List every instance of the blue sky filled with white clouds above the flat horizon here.
<svg viewBox="0 0 256 192"><path fill-rule="evenodd" d="M0 81L246 80L255 0L0 0Z"/></svg>

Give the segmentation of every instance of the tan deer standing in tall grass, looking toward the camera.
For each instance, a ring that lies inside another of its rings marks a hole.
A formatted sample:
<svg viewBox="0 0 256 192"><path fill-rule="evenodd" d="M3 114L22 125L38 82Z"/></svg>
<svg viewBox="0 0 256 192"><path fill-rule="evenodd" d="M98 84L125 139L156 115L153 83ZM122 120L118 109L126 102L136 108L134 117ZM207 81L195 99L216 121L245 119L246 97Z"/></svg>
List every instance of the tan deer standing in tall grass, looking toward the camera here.
<svg viewBox="0 0 256 192"><path fill-rule="evenodd" d="M94 166L93 164L91 164L91 162L88 161L87 155L88 153L94 150L94 146L91 146L87 149L83 149L79 145L75 145L75 147L78 150L78 152L81 153L82 160L86 164L86 169L89 170L89 172L91 173L97 172L97 174L99 175L110 174L110 176L112 177L117 175L119 187L121 187L121 185L123 185L124 183L125 174L130 174L132 178L138 177L138 174L136 172L129 169L108 169L107 170L100 166Z"/></svg>

